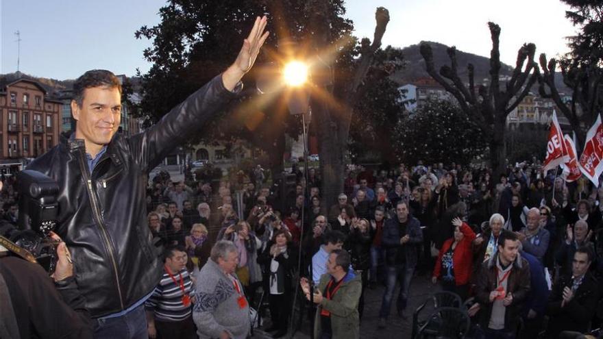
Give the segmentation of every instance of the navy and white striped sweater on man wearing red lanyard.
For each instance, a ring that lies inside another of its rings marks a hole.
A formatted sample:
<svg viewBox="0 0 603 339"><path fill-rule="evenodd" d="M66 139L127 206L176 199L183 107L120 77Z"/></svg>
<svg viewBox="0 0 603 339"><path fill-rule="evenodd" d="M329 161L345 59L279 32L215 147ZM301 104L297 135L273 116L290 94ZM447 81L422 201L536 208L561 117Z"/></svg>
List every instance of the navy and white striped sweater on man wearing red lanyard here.
<svg viewBox="0 0 603 339"><path fill-rule="evenodd" d="M183 321L190 316L192 304L184 306L182 297L184 293L180 288L180 276L184 284L184 293L189 297L195 295L193 281L186 268L180 271L180 275L176 274L174 280L164 272L158 286L153 290L151 297L145 302L145 309L152 311L158 321Z"/></svg>

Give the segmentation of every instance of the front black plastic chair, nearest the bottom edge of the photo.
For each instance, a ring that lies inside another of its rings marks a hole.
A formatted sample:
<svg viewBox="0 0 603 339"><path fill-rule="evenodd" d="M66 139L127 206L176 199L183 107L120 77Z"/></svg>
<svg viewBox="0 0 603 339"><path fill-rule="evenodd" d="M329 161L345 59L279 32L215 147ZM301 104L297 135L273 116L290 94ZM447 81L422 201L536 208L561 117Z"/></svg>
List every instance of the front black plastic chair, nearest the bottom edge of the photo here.
<svg viewBox="0 0 603 339"><path fill-rule="evenodd" d="M467 336L470 325L471 321L465 310L459 307L439 307L419 327L413 339L462 339Z"/></svg>

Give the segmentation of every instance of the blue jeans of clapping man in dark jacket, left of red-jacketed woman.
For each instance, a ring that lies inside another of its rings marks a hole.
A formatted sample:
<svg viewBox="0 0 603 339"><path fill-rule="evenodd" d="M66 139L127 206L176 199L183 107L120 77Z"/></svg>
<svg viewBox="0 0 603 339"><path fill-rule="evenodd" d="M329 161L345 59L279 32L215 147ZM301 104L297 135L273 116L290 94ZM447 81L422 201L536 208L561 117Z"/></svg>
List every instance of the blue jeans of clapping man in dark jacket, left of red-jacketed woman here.
<svg viewBox="0 0 603 339"><path fill-rule="evenodd" d="M391 299L393 298L393 292L397 281L400 281L400 292L396 301L396 309L398 312L402 312L406 309L408 290L410 290L410 279L413 279L413 273L415 273L415 267L406 267L406 264L393 266L386 265L385 270L387 273L387 286L385 288L385 293L383 294L383 300L381 301L379 318L387 318L389 316Z"/></svg>

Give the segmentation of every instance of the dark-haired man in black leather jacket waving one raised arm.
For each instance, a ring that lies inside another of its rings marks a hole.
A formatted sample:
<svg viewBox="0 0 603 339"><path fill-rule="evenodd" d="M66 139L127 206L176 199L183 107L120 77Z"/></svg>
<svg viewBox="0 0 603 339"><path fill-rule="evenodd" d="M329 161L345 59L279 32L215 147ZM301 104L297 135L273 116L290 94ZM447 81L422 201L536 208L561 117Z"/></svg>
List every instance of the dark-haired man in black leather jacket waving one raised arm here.
<svg viewBox="0 0 603 339"><path fill-rule="evenodd" d="M241 91L266 25L265 16L256 18L231 66L131 137L117 133L119 79L105 70L84 73L73 84L75 133L29 164L58 182L56 231L77 258L75 279L96 321L96 338L147 338L144 303L162 275L146 220L149 172Z"/></svg>

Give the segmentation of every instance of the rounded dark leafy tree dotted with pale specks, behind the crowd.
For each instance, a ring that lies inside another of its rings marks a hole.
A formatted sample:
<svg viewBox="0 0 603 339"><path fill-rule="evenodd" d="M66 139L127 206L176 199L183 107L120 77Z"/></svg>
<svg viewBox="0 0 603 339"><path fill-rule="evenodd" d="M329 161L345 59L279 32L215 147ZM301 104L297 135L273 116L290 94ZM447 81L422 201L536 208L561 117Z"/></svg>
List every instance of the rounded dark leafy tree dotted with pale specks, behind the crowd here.
<svg viewBox="0 0 603 339"><path fill-rule="evenodd" d="M423 160L469 164L484 155L487 138L478 123L458 105L430 100L395 127L396 155L406 164Z"/></svg>

